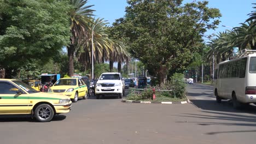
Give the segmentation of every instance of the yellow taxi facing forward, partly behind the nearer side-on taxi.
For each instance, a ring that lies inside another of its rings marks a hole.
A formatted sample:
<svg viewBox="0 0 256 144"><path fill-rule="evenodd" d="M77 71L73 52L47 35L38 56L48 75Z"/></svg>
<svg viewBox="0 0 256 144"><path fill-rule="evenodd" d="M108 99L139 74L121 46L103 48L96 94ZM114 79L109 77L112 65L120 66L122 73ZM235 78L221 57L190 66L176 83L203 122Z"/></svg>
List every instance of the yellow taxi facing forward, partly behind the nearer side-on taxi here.
<svg viewBox="0 0 256 144"><path fill-rule="evenodd" d="M78 98L87 98L88 88L84 81L79 78L68 77L59 79L48 89L51 93L61 93L71 98L76 103Z"/></svg>

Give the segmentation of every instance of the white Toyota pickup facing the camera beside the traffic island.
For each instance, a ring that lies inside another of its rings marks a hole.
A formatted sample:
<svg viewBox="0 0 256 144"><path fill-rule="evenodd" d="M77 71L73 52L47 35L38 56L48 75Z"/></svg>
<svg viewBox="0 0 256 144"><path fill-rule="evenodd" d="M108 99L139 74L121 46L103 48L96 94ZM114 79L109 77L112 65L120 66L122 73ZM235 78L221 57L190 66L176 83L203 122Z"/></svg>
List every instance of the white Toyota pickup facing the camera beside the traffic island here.
<svg viewBox="0 0 256 144"><path fill-rule="evenodd" d="M124 81L120 73L102 73L95 88L96 98L100 96L112 95L120 99L124 96Z"/></svg>

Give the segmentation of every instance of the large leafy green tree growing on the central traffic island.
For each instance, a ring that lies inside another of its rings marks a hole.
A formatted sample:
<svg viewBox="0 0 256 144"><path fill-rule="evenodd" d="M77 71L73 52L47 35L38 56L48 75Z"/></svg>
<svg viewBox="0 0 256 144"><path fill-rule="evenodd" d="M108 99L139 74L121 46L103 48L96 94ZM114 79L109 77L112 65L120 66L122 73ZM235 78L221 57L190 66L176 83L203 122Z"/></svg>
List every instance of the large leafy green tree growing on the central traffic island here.
<svg viewBox="0 0 256 144"><path fill-rule="evenodd" d="M182 0L127 1L123 21L130 52L146 64L160 83L167 75L183 70L201 47L202 35L214 29L220 17L208 2L182 4Z"/></svg>

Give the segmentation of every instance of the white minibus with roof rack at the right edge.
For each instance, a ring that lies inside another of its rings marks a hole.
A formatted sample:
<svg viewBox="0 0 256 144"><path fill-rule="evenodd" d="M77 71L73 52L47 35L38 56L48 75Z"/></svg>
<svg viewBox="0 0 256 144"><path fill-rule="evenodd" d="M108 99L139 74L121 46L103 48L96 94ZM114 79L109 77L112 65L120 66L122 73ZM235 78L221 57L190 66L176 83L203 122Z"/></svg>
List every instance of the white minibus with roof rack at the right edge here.
<svg viewBox="0 0 256 144"><path fill-rule="evenodd" d="M235 109L256 104L256 50L242 50L216 65L213 90L217 103L231 99Z"/></svg>

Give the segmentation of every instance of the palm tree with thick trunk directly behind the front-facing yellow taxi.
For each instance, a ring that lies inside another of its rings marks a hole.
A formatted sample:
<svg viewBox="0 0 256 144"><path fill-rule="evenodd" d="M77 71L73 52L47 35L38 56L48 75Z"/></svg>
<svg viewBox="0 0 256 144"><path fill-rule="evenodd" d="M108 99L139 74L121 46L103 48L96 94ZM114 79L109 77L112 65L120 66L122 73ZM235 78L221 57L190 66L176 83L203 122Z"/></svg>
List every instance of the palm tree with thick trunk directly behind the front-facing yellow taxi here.
<svg viewBox="0 0 256 144"><path fill-rule="evenodd" d="M70 15L70 28L71 28L71 44L67 46L68 51L68 75L74 73L74 55L75 50L79 45L90 35L90 27L88 23L92 23L91 17L94 10L89 9L94 5L86 6L88 0L71 0Z"/></svg>

